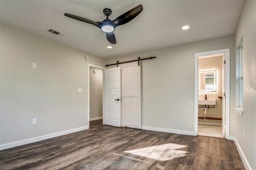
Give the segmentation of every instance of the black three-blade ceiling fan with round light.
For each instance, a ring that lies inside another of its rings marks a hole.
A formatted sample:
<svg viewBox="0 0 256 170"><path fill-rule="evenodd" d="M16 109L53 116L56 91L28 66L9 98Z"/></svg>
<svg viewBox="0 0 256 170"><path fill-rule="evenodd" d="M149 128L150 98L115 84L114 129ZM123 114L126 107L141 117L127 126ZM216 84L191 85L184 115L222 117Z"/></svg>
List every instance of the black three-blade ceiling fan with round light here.
<svg viewBox="0 0 256 170"><path fill-rule="evenodd" d="M139 5L133 9L131 9L130 11L127 11L126 13L120 15L116 19L110 20L110 19L108 19L108 17L112 14L112 10L110 10L109 8L105 8L103 10L103 13L105 16L107 16L107 18L105 20L103 20L102 22L94 22L92 20L82 18L80 16L75 16L72 14L67 14L67 13L65 13L64 15L68 16L70 18L73 18L75 20L87 22L89 24L92 24L92 25L100 28L103 32L106 32L108 41L110 43L114 44L114 43L116 43L116 38L115 38L115 35L113 32L115 30L115 28L117 26L120 26L120 25L126 24L127 22L130 22L136 16L138 16L138 14L140 14L140 12L142 12L142 10L143 10L142 5Z"/></svg>

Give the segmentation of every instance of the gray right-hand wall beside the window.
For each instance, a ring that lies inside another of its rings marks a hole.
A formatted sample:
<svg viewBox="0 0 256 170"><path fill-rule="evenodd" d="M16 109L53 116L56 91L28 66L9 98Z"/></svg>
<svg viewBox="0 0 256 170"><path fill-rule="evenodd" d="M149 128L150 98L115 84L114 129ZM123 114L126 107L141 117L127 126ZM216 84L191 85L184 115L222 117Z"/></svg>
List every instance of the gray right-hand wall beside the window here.
<svg viewBox="0 0 256 170"><path fill-rule="evenodd" d="M256 169L256 1L246 0L236 28L236 47L244 41L244 114L235 113L235 140L250 167ZM239 63L239 56L236 57ZM239 75L237 74L237 79ZM239 103L236 103L239 105ZM234 110L232 108L232 110ZM244 137L244 127L246 137Z"/></svg>

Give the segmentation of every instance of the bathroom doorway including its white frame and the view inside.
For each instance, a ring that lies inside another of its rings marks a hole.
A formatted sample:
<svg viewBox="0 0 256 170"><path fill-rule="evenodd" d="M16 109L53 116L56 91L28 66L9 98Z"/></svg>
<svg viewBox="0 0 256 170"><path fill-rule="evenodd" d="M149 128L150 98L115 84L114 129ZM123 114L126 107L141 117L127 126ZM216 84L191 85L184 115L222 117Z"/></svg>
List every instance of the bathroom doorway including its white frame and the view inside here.
<svg viewBox="0 0 256 170"><path fill-rule="evenodd" d="M196 134L228 138L229 49L196 53L195 60Z"/></svg>

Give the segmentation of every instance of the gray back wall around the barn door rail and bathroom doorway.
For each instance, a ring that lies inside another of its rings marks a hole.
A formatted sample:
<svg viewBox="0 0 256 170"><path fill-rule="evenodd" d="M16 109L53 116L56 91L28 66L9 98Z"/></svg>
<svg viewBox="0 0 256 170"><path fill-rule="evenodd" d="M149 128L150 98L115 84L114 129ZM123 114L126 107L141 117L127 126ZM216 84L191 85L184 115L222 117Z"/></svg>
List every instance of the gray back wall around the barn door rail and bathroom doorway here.
<svg viewBox="0 0 256 170"><path fill-rule="evenodd" d="M188 43L174 47L112 58L107 64L128 61L139 56L156 59L142 61L142 127L194 132L195 53L230 48L231 82L235 81L234 36ZM234 108L235 86L231 83ZM234 135L234 115L230 115L230 135Z"/></svg>

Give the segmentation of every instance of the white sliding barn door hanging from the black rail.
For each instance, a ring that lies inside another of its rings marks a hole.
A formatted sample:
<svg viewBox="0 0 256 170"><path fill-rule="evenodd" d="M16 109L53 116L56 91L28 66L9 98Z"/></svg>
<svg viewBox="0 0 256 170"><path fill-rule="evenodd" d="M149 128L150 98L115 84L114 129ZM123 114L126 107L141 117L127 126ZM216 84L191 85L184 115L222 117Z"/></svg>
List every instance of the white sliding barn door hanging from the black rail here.
<svg viewBox="0 0 256 170"><path fill-rule="evenodd" d="M141 128L140 66L138 62L121 67L121 126Z"/></svg>

